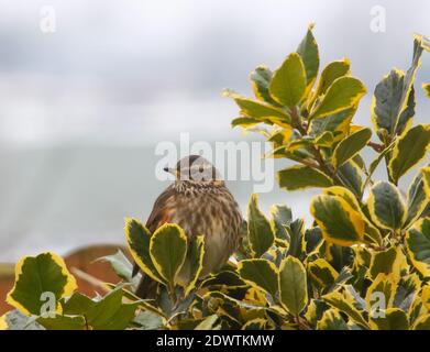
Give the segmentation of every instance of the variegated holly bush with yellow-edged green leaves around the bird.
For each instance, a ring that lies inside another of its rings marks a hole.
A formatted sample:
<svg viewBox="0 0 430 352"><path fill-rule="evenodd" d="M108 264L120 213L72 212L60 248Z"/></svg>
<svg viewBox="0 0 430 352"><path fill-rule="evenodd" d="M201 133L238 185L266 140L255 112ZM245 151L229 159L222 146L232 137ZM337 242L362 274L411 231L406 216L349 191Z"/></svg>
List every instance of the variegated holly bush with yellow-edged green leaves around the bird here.
<svg viewBox="0 0 430 352"><path fill-rule="evenodd" d="M103 257L122 278L89 298L54 253L23 257L0 319L9 329L430 329L430 167L417 169L430 145L430 124L414 124L415 78L430 42L415 36L407 72L376 86L372 129L353 123L366 94L345 58L319 75L310 26L296 52L274 72L251 74L254 98L228 90L239 106L233 127L264 135L266 157L295 165L277 174L280 188L321 188L310 202L311 227L276 205L267 217L256 195L242 242L225 266L199 278L205 238L176 224L155 233L125 220L125 238L141 271L159 283L156 297L133 294L141 274L122 253ZM423 84L430 98L430 84ZM370 163L361 155L373 151ZM376 180L385 167L386 179ZM399 179L415 169L407 190ZM177 274L190 258L190 280ZM47 293L47 294L46 294ZM49 300L49 295L52 300ZM51 305L49 305L51 302Z"/></svg>

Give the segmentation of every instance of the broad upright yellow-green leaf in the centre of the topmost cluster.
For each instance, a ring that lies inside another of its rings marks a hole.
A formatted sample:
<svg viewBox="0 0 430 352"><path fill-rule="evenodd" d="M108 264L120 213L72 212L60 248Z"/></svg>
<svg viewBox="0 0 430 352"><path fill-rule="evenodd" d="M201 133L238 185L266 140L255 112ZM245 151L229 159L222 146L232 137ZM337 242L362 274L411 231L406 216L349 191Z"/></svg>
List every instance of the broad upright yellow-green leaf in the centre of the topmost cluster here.
<svg viewBox="0 0 430 352"><path fill-rule="evenodd" d="M304 62L299 54L293 53L275 70L269 91L273 99L277 102L293 108L304 98L306 86Z"/></svg>

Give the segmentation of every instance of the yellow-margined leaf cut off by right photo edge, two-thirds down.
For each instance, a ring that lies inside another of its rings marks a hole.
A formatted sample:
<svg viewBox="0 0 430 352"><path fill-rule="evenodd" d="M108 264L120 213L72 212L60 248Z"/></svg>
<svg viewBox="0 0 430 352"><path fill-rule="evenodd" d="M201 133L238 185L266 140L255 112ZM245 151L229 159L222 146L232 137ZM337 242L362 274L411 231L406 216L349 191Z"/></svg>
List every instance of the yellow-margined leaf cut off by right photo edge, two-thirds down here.
<svg viewBox="0 0 430 352"><path fill-rule="evenodd" d="M414 266L430 277L430 218L423 218L406 233L406 248Z"/></svg>

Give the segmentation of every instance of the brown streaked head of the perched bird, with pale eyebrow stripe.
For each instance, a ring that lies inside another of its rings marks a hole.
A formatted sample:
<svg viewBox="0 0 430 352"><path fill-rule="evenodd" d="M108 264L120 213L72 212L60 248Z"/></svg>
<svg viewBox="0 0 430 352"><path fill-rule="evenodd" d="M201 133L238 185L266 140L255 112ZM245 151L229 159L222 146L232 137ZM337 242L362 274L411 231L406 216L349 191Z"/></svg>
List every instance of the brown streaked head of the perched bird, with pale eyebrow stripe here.
<svg viewBox="0 0 430 352"><path fill-rule="evenodd" d="M175 175L177 182L222 183L218 169L200 155L185 156L174 167L165 167L164 170Z"/></svg>

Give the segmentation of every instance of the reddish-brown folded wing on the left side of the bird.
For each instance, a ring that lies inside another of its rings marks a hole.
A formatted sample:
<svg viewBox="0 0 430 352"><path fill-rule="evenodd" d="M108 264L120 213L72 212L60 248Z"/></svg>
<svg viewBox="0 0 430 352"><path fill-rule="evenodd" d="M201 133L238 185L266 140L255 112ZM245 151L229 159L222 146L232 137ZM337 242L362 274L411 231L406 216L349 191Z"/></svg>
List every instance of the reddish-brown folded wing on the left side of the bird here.
<svg viewBox="0 0 430 352"><path fill-rule="evenodd" d="M146 221L146 228L151 233L154 233L164 223L172 221L175 216L175 200L176 191L172 186L167 187L155 200L150 218ZM134 263L132 276L135 276L139 271L139 265Z"/></svg>

